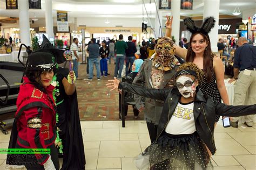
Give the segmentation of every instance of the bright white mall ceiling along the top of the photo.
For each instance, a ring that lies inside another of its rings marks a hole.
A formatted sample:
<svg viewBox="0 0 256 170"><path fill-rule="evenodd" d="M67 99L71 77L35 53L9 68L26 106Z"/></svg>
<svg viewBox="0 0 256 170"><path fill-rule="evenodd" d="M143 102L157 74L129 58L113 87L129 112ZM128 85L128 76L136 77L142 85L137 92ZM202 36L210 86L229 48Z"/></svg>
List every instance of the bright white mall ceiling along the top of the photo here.
<svg viewBox="0 0 256 170"><path fill-rule="evenodd" d="M29 10L31 18L45 17L45 1L48 0L41 0L42 10ZM152 18L156 12L154 1L144 0L146 9L151 12ZM142 18L142 2L143 0L52 0L52 16L56 18L56 10L64 10L69 11L69 17ZM203 2L204 0L193 0L193 10L181 10L181 15L202 16ZM241 12L250 9L255 9L256 12L256 0L220 0L219 12L220 14L232 15L237 5ZM163 11L163 16L166 14L170 15L171 11ZM18 10L5 10L5 0L0 0L0 17L18 17ZM242 16L240 15L240 17Z"/></svg>

